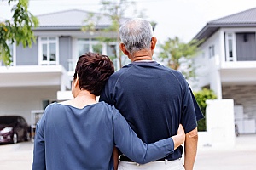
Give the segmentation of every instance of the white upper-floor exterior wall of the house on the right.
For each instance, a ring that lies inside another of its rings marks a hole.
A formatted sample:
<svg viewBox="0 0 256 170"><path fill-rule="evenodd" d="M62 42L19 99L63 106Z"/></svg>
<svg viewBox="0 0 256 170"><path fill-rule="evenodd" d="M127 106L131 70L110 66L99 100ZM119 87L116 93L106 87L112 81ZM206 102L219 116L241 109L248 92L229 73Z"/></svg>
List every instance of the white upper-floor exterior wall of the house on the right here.
<svg viewBox="0 0 256 170"><path fill-rule="evenodd" d="M256 71L255 61L236 61L236 59L234 61L227 61L225 56L225 34L243 32L255 32L255 29L221 28L201 45L202 53L195 58L195 63L199 65L199 69L196 73L199 82L195 82L198 86L197 89L206 86L210 87L218 95L218 99L222 99L222 93L224 91L222 85L224 84L255 84L255 77L253 76ZM250 37L250 39L252 38ZM241 40L240 37L240 39L234 39L234 41L241 42L243 40ZM209 58L208 48L212 44L215 48L215 56ZM239 46L239 48L241 47ZM237 52L238 47L234 47L234 50ZM252 54L253 52L247 52L246 57L247 55L252 56Z"/></svg>

